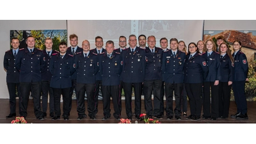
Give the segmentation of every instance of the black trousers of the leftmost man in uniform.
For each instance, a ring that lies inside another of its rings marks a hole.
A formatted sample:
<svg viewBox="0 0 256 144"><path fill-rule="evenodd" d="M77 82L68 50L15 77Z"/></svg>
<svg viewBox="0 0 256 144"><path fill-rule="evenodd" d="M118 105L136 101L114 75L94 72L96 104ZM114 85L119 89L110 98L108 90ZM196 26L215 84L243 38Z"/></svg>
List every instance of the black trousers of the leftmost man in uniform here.
<svg viewBox="0 0 256 144"><path fill-rule="evenodd" d="M10 114L16 113L16 93L19 97L19 113L20 113L20 83L7 83L10 102Z"/></svg>

